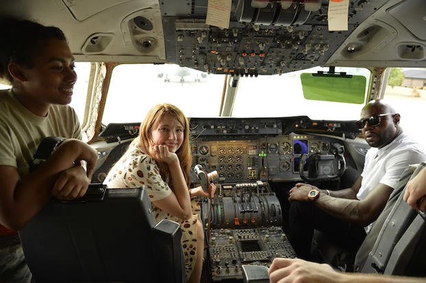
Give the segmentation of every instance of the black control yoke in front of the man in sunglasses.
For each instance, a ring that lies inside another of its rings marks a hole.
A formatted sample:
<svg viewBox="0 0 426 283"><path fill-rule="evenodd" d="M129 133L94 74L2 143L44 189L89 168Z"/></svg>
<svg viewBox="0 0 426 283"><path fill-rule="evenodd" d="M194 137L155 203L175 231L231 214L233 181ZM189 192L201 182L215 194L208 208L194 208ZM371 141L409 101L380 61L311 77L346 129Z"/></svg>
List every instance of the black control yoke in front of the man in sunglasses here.
<svg viewBox="0 0 426 283"><path fill-rule="evenodd" d="M327 181L340 177L346 168L343 145L333 143L331 153L333 154L303 154L299 163L300 177L309 182ZM305 164L307 165L307 175L304 171Z"/></svg>

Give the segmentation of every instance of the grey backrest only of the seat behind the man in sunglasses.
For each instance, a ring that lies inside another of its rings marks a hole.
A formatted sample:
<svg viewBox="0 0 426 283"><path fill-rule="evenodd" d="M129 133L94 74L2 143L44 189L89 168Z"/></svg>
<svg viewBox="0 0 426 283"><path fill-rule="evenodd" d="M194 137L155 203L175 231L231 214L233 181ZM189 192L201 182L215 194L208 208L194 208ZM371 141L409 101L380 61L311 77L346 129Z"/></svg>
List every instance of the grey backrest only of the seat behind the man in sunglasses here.
<svg viewBox="0 0 426 283"><path fill-rule="evenodd" d="M426 162L418 165L411 178L422 169L426 170L424 167ZM369 238L375 240L365 263L355 262L355 267L362 273L426 275L426 215L408 206L403 200L404 191L394 190L375 223L381 229L377 233L373 225L359 250L358 253L365 249Z"/></svg>

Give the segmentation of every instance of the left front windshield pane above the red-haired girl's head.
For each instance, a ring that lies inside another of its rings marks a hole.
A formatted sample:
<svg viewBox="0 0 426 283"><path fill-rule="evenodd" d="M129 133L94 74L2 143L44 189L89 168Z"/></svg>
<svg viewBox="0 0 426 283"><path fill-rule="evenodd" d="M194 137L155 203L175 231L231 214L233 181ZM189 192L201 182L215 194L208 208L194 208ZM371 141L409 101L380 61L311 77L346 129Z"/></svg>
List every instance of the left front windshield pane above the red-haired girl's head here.
<svg viewBox="0 0 426 283"><path fill-rule="evenodd" d="M225 77L174 64L121 64L113 70L102 123L140 122L166 102L188 116L219 116Z"/></svg>

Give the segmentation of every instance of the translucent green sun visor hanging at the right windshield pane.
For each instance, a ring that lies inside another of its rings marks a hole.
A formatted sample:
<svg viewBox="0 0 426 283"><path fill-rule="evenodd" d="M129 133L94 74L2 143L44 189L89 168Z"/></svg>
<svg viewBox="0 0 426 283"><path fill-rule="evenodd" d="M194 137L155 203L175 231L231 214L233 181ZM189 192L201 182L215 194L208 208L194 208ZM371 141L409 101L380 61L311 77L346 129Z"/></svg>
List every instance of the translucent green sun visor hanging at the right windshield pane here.
<svg viewBox="0 0 426 283"><path fill-rule="evenodd" d="M303 96L309 100L362 104L366 96L366 77L346 73L302 73Z"/></svg>

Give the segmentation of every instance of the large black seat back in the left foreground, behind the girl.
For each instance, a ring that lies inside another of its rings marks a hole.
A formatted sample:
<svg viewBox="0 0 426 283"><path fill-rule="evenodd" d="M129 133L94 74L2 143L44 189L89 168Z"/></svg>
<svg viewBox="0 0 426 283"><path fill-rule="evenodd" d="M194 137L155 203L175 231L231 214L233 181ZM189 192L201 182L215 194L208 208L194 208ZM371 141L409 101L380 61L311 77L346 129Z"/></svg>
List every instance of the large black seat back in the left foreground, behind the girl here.
<svg viewBox="0 0 426 283"><path fill-rule="evenodd" d="M185 282L180 225L156 224L143 188L52 199L20 236L36 283Z"/></svg>

